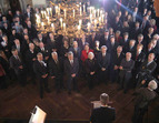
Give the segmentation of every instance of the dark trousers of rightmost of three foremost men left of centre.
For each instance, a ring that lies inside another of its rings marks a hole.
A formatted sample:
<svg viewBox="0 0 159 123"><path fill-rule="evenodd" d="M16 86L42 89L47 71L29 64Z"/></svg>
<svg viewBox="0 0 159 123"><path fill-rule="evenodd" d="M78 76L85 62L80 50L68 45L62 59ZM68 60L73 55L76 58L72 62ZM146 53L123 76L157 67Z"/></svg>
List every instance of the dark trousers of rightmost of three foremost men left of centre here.
<svg viewBox="0 0 159 123"><path fill-rule="evenodd" d="M77 85L77 76L72 78L72 76L69 76L68 78L68 91L71 92L71 85L73 83L73 90L78 91L78 85Z"/></svg>

